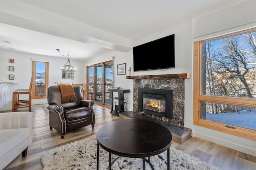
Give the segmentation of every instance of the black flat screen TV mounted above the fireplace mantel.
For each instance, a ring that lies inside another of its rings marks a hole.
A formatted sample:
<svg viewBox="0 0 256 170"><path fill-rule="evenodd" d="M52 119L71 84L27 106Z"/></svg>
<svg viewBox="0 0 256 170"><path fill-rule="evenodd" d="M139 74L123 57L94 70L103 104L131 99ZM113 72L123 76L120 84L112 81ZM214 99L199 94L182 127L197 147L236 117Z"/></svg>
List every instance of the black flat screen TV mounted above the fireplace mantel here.
<svg viewBox="0 0 256 170"><path fill-rule="evenodd" d="M133 47L134 71L174 67L174 34Z"/></svg>

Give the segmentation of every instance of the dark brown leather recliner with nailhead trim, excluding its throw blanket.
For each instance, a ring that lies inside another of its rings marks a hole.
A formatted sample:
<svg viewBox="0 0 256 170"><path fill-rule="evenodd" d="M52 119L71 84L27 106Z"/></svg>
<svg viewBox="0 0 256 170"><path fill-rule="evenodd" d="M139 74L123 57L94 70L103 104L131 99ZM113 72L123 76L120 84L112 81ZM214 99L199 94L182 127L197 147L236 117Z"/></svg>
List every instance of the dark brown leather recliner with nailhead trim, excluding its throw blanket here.
<svg viewBox="0 0 256 170"><path fill-rule="evenodd" d="M80 86L72 86L77 101L62 104L59 86L50 86L47 89L50 129L60 132L61 139L67 131L95 124L95 114L92 100L83 100Z"/></svg>

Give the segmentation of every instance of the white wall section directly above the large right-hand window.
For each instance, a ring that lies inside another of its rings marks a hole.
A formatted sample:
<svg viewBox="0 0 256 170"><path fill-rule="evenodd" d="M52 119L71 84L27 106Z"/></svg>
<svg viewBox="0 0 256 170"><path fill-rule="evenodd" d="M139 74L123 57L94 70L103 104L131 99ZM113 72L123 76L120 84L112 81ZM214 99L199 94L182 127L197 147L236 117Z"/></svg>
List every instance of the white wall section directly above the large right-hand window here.
<svg viewBox="0 0 256 170"><path fill-rule="evenodd" d="M224 10L194 18L194 41L255 27L255 6L255 0L248 0Z"/></svg>

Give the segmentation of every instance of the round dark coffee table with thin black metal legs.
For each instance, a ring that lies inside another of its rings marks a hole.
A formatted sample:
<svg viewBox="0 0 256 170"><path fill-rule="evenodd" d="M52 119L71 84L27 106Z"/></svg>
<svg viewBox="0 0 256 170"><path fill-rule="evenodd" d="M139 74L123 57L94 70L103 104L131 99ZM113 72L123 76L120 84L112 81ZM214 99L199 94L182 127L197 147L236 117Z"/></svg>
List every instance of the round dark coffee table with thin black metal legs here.
<svg viewBox="0 0 256 170"><path fill-rule="evenodd" d="M103 125L97 132L97 170L99 168L99 146L111 154L130 158L142 158L150 163L150 156L167 150L167 169L170 169L170 146L172 134L164 126L143 119L125 119ZM151 164L150 164L151 166ZM151 166L152 167L152 166Z"/></svg>

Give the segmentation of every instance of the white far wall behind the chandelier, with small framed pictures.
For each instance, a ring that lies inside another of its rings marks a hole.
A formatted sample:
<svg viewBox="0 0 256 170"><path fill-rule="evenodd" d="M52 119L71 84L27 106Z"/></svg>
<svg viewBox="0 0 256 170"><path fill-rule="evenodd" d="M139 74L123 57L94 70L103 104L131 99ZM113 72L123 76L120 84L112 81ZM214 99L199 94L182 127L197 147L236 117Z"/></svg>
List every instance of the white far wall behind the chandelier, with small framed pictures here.
<svg viewBox="0 0 256 170"><path fill-rule="evenodd" d="M44 55L34 55L29 53L17 52L14 50L1 49L0 53L0 80L4 82L16 82L9 85L9 94L6 96L7 103L12 101L12 92L16 89L28 89L32 75L32 58L43 59L49 61L49 86L53 86L53 82L69 82L82 83L86 82L86 68L84 61L76 61L70 58L72 66L77 68L74 80L62 79L62 71L60 67L66 64L67 57L52 57ZM9 63L9 59L14 59L14 63ZM14 66L14 71L8 71L9 66ZM9 80L9 74L14 74L14 80ZM21 95L21 99L27 98L26 95ZM2 102L2 101L1 101ZM32 100L32 104L47 104L47 99ZM1 104L3 107L3 104Z"/></svg>

